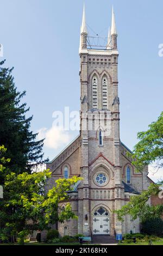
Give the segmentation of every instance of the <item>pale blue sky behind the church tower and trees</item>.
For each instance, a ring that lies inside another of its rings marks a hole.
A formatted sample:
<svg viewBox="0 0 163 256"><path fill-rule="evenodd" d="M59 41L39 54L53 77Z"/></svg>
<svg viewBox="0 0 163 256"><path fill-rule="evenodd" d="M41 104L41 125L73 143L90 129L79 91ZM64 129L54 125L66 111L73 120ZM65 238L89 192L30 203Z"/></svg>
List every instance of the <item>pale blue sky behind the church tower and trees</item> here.
<svg viewBox="0 0 163 256"><path fill-rule="evenodd" d="M162 0L85 0L87 25L108 35L114 4L120 52L118 78L121 140L130 149L138 131L146 130L162 111ZM54 111L80 107L79 32L83 0L0 0L0 43L5 65L14 66L18 90L34 115L32 130L47 134ZM90 35L93 32L88 28ZM2 59L2 57L0 58ZM56 131L44 148L53 159L78 132ZM57 139L57 141L56 141ZM61 143L59 143L61 139Z"/></svg>

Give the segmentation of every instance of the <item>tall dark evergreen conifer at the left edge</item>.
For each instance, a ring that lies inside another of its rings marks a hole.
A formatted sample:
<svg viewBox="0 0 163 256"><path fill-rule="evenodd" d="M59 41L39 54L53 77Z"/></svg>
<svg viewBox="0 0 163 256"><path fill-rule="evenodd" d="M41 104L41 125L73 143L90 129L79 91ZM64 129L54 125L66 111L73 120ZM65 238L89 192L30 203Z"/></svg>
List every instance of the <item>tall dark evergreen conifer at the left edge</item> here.
<svg viewBox="0 0 163 256"><path fill-rule="evenodd" d="M30 131L33 117L26 118L29 108L21 103L26 92L17 91L13 68L4 68L4 62L0 63L0 143L8 149L8 167L16 173L30 173L31 163L42 160L43 140L36 141L37 133Z"/></svg>

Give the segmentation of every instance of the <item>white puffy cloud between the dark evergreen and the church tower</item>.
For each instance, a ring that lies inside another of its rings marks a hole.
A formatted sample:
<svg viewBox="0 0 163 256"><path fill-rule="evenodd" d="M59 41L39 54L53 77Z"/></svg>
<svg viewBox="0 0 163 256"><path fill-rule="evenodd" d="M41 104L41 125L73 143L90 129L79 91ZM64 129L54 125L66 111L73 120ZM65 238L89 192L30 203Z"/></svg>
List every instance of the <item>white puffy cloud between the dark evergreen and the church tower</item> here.
<svg viewBox="0 0 163 256"><path fill-rule="evenodd" d="M58 149L63 145L68 144L71 140L71 136L68 131L57 126L53 126L51 129L43 127L38 131L38 133L37 138L39 140L45 138L44 145L49 149Z"/></svg>

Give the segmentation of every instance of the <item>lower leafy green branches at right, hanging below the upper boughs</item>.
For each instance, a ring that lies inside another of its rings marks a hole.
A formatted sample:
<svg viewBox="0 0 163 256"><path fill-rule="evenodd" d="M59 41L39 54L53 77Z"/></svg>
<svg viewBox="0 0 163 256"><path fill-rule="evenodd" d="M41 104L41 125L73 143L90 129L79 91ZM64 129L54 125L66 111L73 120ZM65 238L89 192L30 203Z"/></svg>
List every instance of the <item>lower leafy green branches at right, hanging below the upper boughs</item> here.
<svg viewBox="0 0 163 256"><path fill-rule="evenodd" d="M139 196L130 197L130 202L122 206L121 210L115 211L118 216L118 220L123 222L123 217L125 215L130 215L133 220L140 217L142 221L146 221L149 218L157 218L162 215L163 205L150 206L147 203L150 196L158 196L160 192L159 184L151 184L148 190L143 191Z"/></svg>

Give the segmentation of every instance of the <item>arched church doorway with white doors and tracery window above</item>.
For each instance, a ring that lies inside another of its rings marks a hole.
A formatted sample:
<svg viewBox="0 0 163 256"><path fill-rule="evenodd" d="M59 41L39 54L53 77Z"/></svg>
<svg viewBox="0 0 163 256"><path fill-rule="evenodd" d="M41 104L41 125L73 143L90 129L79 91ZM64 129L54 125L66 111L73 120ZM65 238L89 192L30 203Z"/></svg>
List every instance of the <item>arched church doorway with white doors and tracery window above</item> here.
<svg viewBox="0 0 163 256"><path fill-rule="evenodd" d="M110 235L110 215L103 207L93 212L93 235Z"/></svg>

